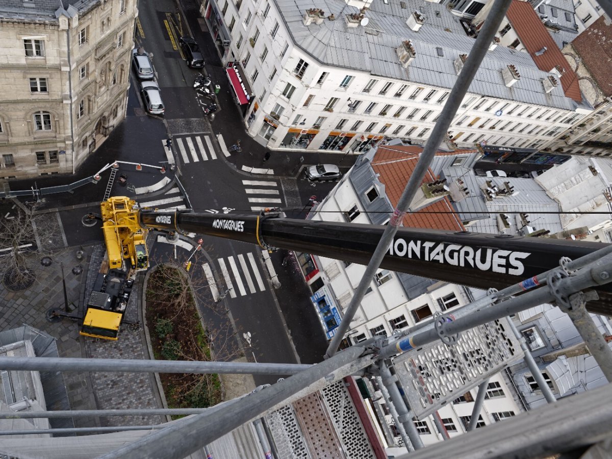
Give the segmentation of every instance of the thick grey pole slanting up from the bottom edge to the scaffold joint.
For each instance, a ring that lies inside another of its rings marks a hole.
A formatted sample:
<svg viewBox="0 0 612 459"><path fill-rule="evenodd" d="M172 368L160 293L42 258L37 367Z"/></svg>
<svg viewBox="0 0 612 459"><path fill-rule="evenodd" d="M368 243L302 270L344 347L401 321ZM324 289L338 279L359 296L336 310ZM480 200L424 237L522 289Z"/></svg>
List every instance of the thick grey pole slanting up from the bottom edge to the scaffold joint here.
<svg viewBox="0 0 612 459"><path fill-rule="evenodd" d="M167 428L107 453L102 458L185 457L242 424L261 417L268 409L286 403L288 398L298 393L307 395L312 390L305 391L317 383L340 381L341 378L352 375L354 371L368 367L374 356L368 354L362 357L364 351L364 346L352 346L318 365L312 365L297 375L283 379L274 386L256 390L234 401L231 409L214 406L202 414L178 420Z"/></svg>

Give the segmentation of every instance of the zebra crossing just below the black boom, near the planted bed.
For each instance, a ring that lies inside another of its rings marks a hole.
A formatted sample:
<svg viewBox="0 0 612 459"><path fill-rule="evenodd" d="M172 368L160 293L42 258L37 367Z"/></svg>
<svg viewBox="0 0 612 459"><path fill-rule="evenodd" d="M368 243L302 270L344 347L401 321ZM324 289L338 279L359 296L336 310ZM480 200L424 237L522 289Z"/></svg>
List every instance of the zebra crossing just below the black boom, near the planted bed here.
<svg viewBox="0 0 612 459"><path fill-rule="evenodd" d="M252 252L240 253L235 257L218 258L212 262L212 266L209 263L204 263L202 269L211 288L212 298L215 301L226 295L236 298L237 296L247 296L266 290L266 284L261 277ZM217 282L215 282L215 277L212 274L213 269L220 272L221 285L217 285Z"/></svg>

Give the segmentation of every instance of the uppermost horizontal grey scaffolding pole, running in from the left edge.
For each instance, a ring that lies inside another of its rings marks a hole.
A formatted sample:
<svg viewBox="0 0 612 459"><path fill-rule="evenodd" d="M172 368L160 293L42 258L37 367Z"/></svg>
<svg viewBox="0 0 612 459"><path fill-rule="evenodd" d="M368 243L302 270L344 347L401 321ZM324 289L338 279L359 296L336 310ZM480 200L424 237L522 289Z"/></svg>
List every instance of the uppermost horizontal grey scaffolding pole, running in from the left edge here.
<svg viewBox="0 0 612 459"><path fill-rule="evenodd" d="M296 375L313 365L192 360L73 359L68 357L0 357L3 370L122 371L129 373L223 373Z"/></svg>

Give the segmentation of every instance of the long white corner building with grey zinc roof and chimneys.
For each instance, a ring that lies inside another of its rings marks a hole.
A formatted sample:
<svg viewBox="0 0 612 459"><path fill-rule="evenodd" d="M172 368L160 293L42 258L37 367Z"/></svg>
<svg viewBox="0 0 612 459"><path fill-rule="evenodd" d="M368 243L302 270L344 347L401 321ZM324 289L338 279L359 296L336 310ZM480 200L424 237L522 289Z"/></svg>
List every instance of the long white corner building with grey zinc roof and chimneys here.
<svg viewBox="0 0 612 459"><path fill-rule="evenodd" d="M457 16L430 2L375 2L365 17L342 0L308 10L220 2L231 32L223 55L243 64L255 97L245 122L273 149L423 143L474 42ZM528 54L491 45L449 135L460 146L538 147L555 138L586 112L560 85L547 86L548 76Z"/></svg>

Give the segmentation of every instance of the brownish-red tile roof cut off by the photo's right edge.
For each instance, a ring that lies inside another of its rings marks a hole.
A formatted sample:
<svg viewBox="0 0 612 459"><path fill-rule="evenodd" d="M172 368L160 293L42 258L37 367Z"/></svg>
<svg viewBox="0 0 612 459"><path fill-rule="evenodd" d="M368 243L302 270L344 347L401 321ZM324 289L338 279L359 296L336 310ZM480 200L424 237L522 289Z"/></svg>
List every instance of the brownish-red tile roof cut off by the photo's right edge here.
<svg viewBox="0 0 612 459"><path fill-rule="evenodd" d="M572 46L599 84L603 95L612 95L612 21L606 20L603 15L578 35Z"/></svg>

